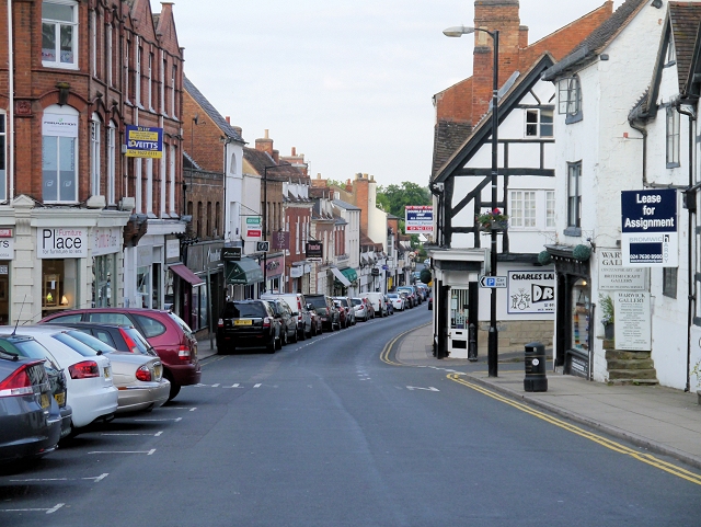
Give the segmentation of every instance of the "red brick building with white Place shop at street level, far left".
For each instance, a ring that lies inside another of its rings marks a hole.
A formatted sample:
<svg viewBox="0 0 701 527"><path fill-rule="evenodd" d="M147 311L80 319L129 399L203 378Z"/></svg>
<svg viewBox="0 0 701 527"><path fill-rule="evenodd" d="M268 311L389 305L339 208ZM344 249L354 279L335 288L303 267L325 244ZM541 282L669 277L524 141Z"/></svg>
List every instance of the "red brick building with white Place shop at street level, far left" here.
<svg viewBox="0 0 701 527"><path fill-rule="evenodd" d="M162 307L166 239L185 229L172 4L5 0L0 41L0 323L23 303L26 321ZM123 156L129 125L158 128L162 156Z"/></svg>

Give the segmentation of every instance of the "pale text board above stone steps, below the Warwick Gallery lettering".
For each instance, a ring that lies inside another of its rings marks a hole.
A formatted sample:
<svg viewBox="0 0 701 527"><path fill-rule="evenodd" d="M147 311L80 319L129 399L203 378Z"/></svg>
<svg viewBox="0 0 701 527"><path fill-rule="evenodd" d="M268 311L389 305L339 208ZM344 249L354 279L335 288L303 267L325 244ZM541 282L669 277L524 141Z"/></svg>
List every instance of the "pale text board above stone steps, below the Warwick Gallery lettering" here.
<svg viewBox="0 0 701 527"><path fill-rule="evenodd" d="M631 352L652 350L650 293L618 291L613 295L616 348Z"/></svg>

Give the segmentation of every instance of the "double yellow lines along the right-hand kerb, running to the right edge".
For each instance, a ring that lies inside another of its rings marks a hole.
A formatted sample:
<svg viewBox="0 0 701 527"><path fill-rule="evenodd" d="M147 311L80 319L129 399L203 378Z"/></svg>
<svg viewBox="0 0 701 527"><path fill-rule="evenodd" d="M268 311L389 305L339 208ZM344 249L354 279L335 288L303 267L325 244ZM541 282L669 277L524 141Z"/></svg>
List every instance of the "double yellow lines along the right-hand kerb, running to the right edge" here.
<svg viewBox="0 0 701 527"><path fill-rule="evenodd" d="M570 424L565 421L559 420L556 417L553 417L552 415L548 415L543 412L539 412L538 410L535 410L530 406L528 406L527 404L514 401L507 397L504 397L499 393L496 393L492 390L487 390L486 388L483 388L474 382L470 382L467 379L462 379L460 378L460 376L463 374L450 374L448 375L448 379L458 382L460 385L467 386L468 388L471 388L475 391L479 391L480 393L483 393L487 397L491 397L492 399L496 399L497 401L501 401L505 404L508 404L510 406L514 406L517 410L520 410L521 412L526 412L530 415L533 415L538 419L541 419L543 421L547 421L550 424L553 424L555 426L559 426L563 429L566 429L567 432L571 432L573 434L576 434L578 436L582 436L586 439L593 440L594 443L598 443L599 445L609 448L610 450L617 451L619 454L623 454L627 456L630 456L634 459L637 459L639 461L642 461L644 463L647 463L652 467L656 467L659 470L664 470L665 472L668 472L673 476L676 476L678 478L681 478L683 480L690 481L691 483L696 483L697 485L701 485L701 476L700 474L696 474L693 472L690 472L689 470L685 470L681 467L677 467L675 465L668 463L667 461L663 461L662 459L657 459L655 456L652 456L651 454L641 454L637 450L634 450L632 448L629 448L624 445L621 445L620 443L616 443L611 439L608 439L604 436L597 435L597 434L593 434L591 432L587 432L584 428L579 428L578 426L575 426L573 424Z"/></svg>

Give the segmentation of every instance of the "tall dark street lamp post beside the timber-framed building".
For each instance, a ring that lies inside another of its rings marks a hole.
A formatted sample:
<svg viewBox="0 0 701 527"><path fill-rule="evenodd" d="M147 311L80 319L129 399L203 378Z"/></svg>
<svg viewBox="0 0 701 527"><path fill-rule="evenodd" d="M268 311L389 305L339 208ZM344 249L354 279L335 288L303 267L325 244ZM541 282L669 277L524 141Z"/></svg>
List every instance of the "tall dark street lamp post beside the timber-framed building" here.
<svg viewBox="0 0 701 527"><path fill-rule="evenodd" d="M448 27L443 33L446 36L460 37L470 35L475 31L486 33L494 41L494 67L492 75L492 210L497 207L496 179L498 172L498 89L499 89L499 32L498 30L487 31L481 27ZM496 276L496 229L490 232L490 276ZM492 287L490 303L490 340L487 348L487 369L490 377L498 376L498 330L496 328L496 288Z"/></svg>

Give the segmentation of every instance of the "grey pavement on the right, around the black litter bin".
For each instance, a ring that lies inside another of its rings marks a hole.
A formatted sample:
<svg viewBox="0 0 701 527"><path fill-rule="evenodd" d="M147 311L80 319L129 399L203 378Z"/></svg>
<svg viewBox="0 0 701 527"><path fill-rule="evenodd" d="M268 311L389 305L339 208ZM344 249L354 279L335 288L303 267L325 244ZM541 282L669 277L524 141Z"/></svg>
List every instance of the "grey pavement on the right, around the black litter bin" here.
<svg viewBox="0 0 701 527"><path fill-rule="evenodd" d="M484 388L701 469L701 405L696 391L593 382L552 371L549 362L548 391L527 392L522 363L518 363L522 353L501 353L498 377L490 377L486 357L480 356L478 363L439 360L433 356L432 340L430 325L404 333L392 346L394 360L463 373ZM198 342L200 359L216 355L211 342Z"/></svg>

